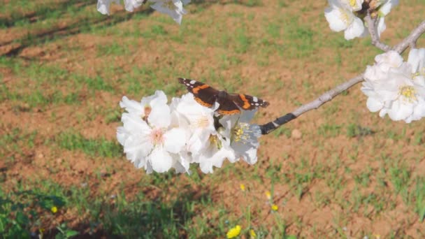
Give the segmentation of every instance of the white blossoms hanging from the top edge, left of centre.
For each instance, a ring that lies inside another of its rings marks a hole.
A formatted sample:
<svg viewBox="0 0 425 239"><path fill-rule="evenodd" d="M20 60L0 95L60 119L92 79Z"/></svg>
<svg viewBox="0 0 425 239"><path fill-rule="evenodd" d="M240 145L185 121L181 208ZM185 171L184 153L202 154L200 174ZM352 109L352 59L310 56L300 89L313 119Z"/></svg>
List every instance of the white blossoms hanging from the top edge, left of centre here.
<svg viewBox="0 0 425 239"><path fill-rule="evenodd" d="M186 10L183 8L184 5L190 2L190 0L124 0L125 10L132 12L135 8L138 8L143 3L150 2L151 8L159 11L159 13L165 13L171 17L178 24L182 23L182 17L186 14ZM110 14L110 3L120 4L120 0L98 0L97 10L102 14Z"/></svg>

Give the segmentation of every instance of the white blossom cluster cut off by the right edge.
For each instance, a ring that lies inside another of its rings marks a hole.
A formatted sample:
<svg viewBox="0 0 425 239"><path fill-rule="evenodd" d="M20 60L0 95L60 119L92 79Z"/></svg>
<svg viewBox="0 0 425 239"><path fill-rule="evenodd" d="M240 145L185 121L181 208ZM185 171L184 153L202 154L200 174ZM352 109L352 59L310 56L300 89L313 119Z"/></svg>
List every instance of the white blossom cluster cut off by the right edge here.
<svg viewBox="0 0 425 239"><path fill-rule="evenodd" d="M375 61L367 66L361 87L368 109L406 123L424 117L425 48L410 50L407 62L395 51L377 55Z"/></svg>

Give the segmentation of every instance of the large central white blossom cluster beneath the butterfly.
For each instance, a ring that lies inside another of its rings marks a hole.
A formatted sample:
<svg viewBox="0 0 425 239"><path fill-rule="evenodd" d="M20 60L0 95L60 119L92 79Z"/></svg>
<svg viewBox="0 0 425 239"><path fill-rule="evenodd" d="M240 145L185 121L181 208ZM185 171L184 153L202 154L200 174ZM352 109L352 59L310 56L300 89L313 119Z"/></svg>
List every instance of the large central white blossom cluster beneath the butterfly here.
<svg viewBox="0 0 425 239"><path fill-rule="evenodd" d="M117 139L127 159L147 173L164 173L170 168L189 173L193 163L199 164L203 173L212 173L212 166L221 167L225 159L257 162L261 130L249 123L255 110L217 115L218 103L212 108L201 106L192 93L173 98L168 105L162 91L141 102L123 96L120 106L127 113L122 114Z"/></svg>

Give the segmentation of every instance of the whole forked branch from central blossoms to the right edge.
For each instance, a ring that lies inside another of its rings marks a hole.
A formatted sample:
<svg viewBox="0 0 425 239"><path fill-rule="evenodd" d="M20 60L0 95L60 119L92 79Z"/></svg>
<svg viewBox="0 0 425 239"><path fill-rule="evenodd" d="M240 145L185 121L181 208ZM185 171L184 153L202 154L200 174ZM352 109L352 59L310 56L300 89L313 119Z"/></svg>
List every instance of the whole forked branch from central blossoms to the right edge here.
<svg viewBox="0 0 425 239"><path fill-rule="evenodd" d="M423 21L421 22L421 24L419 24L419 26L416 29L412 31L412 33L410 33L408 37L403 39L401 43L398 43L394 48L391 48L388 45L381 43L379 41L379 38L377 38L375 20L372 20L370 18L370 15L366 16L365 19L368 22L369 26L373 26L373 28L368 27L370 36L372 37L372 44L375 45L377 48L380 48L381 50L384 50L386 52L389 50L396 50L399 54L401 54L409 46L415 46L419 36L421 36L425 32L425 21ZM341 85L338 85L337 87L329 90L328 92L325 92L324 94L319 96L319 98L315 99L314 101L311 101L310 103L306 103L305 105L301 106L300 108L297 108L293 112L287 113L286 115L283 115L282 117L278 117L274 121L268 122L267 124L260 125L261 133L268 134L271 131L278 129L278 127L282 126L283 124L286 124L287 122L291 121L292 119L296 119L296 117L302 115L303 113L319 108L324 103L331 101L333 97L337 96L338 94L341 94L343 91L356 85L362 80L363 80L363 73L361 73L361 75L357 75L356 77L348 80L347 82L344 82Z"/></svg>

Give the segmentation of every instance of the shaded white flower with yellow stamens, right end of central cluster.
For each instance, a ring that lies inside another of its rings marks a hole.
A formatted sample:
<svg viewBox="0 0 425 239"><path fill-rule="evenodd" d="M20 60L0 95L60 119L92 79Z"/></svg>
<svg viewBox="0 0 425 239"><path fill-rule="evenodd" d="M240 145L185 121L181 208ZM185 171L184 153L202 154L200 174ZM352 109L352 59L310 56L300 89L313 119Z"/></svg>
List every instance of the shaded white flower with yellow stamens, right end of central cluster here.
<svg viewBox="0 0 425 239"><path fill-rule="evenodd" d="M242 157L248 164L255 164L261 129L257 124L250 124L250 121L257 110L241 111L240 115L226 115L219 122L224 126L224 137L230 138L236 158Z"/></svg>

